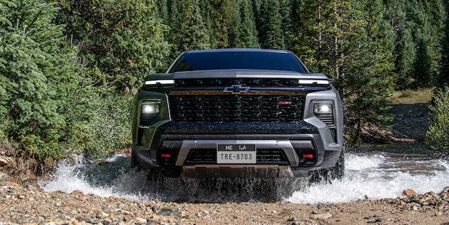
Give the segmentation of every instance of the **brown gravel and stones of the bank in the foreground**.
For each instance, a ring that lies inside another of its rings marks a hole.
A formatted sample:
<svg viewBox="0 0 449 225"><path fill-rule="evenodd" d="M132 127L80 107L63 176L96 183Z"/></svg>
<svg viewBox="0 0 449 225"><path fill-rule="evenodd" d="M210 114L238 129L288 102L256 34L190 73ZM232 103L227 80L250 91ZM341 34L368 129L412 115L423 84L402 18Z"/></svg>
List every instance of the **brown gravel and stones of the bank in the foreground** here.
<svg viewBox="0 0 449 225"><path fill-rule="evenodd" d="M449 187L341 204L141 202L0 183L0 224L449 224Z"/></svg>

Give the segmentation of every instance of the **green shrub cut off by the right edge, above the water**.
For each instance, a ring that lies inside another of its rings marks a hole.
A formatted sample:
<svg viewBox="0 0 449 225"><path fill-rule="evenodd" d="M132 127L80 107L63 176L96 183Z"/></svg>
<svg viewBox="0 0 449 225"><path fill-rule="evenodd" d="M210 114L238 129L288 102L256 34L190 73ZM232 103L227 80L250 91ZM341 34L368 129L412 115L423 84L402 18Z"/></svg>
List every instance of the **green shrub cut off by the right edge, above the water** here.
<svg viewBox="0 0 449 225"><path fill-rule="evenodd" d="M426 144L437 151L449 153L449 87L435 94L429 109L430 127L426 133Z"/></svg>

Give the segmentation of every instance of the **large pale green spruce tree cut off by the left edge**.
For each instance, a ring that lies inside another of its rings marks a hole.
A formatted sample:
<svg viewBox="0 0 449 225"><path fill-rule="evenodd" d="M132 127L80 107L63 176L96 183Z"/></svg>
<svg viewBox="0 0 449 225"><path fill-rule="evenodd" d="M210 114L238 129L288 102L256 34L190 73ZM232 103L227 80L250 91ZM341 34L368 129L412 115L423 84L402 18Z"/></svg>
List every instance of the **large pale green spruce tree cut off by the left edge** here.
<svg viewBox="0 0 449 225"><path fill-rule="evenodd" d="M76 51L65 45L57 10L37 0L0 4L0 126L35 158L63 154L61 99L78 85Z"/></svg>

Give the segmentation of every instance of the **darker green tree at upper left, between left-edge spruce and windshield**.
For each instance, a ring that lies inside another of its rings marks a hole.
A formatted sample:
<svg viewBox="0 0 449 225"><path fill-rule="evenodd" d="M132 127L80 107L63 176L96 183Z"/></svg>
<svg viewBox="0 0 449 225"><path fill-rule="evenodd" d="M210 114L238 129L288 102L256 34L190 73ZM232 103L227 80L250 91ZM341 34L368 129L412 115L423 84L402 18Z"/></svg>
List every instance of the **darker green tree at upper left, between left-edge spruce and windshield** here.
<svg viewBox="0 0 449 225"><path fill-rule="evenodd" d="M165 67L168 27L156 17L151 0L59 1L56 21L80 50L91 86L138 87Z"/></svg>

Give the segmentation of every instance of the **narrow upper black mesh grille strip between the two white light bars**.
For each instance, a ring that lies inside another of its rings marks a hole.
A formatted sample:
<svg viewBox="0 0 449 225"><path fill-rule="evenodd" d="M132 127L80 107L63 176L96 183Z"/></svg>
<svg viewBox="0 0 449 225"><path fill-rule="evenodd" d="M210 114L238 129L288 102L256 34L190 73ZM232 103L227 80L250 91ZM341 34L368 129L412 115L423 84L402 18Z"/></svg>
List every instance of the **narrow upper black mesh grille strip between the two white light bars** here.
<svg viewBox="0 0 449 225"><path fill-rule="evenodd" d="M298 87L298 79L179 79L175 81L175 87L226 87L231 85L244 85L248 87Z"/></svg>

